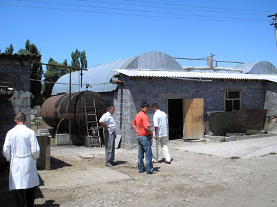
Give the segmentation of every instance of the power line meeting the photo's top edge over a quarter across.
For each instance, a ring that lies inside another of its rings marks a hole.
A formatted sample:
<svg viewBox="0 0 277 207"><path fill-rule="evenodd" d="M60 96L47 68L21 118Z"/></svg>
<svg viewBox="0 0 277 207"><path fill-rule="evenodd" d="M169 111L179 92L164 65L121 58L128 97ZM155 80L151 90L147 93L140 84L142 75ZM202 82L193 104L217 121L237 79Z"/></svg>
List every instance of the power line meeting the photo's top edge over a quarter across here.
<svg viewBox="0 0 277 207"><path fill-rule="evenodd" d="M130 4L130 3L114 3L114 2L110 2L110 1L94 1L94 0L78 0L78 1L93 2L93 3L109 3L109 4L123 5L123 6L140 6L140 7L147 7L147 8L162 8L162 9L171 9L171 10L190 10L190 11L213 12L213 13L218 12L218 13L240 14L240 15L264 15L264 14L261 14L261 13L226 12L226 11L214 11L214 10L195 10L195 9L188 9L188 8L172 8L172 7L164 7L164 6L147 6L147 5Z"/></svg>

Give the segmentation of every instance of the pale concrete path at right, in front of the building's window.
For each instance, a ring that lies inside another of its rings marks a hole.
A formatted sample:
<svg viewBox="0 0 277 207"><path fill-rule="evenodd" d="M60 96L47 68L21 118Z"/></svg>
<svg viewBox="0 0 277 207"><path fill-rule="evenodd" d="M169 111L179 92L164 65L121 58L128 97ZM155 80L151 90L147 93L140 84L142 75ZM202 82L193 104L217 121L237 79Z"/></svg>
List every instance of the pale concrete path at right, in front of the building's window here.
<svg viewBox="0 0 277 207"><path fill-rule="evenodd" d="M215 156L224 156L227 158L231 158L233 156L249 158L252 156L261 156L271 152L277 152L277 136L224 143L206 143L203 145L178 147L177 149L203 154L212 154Z"/></svg>

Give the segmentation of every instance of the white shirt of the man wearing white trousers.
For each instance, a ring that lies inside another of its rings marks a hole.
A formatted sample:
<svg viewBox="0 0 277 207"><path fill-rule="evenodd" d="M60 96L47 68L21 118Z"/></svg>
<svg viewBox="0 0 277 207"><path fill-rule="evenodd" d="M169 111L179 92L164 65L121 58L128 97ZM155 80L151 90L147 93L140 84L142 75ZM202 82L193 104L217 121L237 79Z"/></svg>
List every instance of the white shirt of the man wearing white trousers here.
<svg viewBox="0 0 277 207"><path fill-rule="evenodd" d="M158 133L157 133L158 137L168 136L168 117L166 116L165 112L158 109L154 113L153 122L154 122L154 127L159 127ZM153 136L155 136L155 128L154 128Z"/></svg>

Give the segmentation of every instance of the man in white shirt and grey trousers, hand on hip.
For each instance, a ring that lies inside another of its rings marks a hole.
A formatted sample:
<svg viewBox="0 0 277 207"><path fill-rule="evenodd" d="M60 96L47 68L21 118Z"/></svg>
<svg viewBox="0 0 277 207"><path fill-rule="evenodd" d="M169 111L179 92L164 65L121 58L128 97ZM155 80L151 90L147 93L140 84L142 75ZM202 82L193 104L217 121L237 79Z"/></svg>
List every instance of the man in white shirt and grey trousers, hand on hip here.
<svg viewBox="0 0 277 207"><path fill-rule="evenodd" d="M109 105L107 107L107 112L103 114L99 120L100 125L103 127L107 167L112 167L112 165L115 165L114 152L116 140L116 122L114 120L113 114L114 106Z"/></svg>

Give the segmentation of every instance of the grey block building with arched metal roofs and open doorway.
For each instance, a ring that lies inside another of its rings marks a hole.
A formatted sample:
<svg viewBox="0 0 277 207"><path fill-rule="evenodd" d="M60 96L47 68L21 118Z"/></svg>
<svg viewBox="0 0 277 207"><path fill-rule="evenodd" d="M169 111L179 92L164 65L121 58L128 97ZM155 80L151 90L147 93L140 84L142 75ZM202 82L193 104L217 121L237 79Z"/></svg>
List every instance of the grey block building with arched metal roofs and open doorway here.
<svg viewBox="0 0 277 207"><path fill-rule="evenodd" d="M204 123L213 111L269 109L277 116L272 103L277 104L277 70L269 62L230 66L226 71L210 67L209 71L185 71L174 58L165 53L150 52L123 60L93 66L84 71L82 82L89 87L73 85L73 92L91 90L100 93L116 107L117 134L122 135L122 147L134 147L136 134L132 120L141 110L141 102L157 102L169 118L169 139L184 136L184 101L204 100ZM200 68L199 68L200 69ZM72 82L80 82L80 72L71 74ZM52 95L69 92L69 75L57 80ZM275 97L275 98L274 98ZM153 112L148 114L152 125ZM272 126L273 127L273 126ZM203 134L203 133L202 133Z"/></svg>

